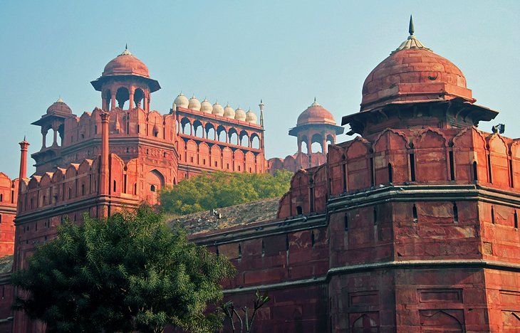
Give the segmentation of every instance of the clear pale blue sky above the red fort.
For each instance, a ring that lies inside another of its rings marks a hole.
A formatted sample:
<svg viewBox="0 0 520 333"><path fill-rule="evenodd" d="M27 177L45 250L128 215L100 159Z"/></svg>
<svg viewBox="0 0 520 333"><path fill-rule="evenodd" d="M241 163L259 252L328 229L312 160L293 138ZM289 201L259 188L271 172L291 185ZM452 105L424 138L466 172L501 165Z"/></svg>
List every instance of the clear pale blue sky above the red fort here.
<svg viewBox="0 0 520 333"><path fill-rule="evenodd" d="M410 14L417 38L462 70L477 104L501 112L480 128L505 122L520 137L520 1L6 0L0 171L18 176L24 135L29 153L40 149L30 124L60 95L76 115L100 106L90 80L125 43L162 86L152 109L166 113L181 90L255 112L262 98L267 157L293 154L288 128L315 96L337 122L358 112L366 75L407 38Z"/></svg>

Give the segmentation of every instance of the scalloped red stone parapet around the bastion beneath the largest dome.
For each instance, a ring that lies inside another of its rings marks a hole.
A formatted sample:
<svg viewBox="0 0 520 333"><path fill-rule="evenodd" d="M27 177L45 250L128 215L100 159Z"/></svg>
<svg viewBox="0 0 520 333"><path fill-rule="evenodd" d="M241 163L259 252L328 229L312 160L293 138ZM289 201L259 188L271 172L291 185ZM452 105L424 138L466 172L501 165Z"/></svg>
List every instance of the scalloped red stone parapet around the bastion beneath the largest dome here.
<svg viewBox="0 0 520 333"><path fill-rule="evenodd" d="M370 140L356 137L330 147L328 193L336 197L404 184L479 184L520 191L519 147L519 139L476 127L385 129ZM302 172L296 173L298 179ZM303 192L301 185L291 185L291 196L303 197ZM305 198L297 206L311 213L308 195Z"/></svg>

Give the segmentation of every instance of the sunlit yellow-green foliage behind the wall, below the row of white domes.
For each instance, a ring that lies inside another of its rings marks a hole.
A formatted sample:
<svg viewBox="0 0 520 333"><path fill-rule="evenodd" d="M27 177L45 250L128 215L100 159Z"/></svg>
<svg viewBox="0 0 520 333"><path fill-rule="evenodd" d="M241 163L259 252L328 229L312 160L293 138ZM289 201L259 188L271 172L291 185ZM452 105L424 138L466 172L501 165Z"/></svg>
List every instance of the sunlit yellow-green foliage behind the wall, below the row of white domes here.
<svg viewBox="0 0 520 333"><path fill-rule="evenodd" d="M175 214L234 206L259 199L276 198L288 191L293 173L270 174L217 171L184 179L161 192L161 206Z"/></svg>

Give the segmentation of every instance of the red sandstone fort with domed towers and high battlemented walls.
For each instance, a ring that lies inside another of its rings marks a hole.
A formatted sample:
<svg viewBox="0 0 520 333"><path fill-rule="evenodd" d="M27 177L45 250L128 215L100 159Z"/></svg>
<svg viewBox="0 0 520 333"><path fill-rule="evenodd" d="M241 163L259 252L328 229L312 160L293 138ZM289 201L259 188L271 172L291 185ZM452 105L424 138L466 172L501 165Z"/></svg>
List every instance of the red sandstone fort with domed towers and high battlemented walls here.
<svg viewBox="0 0 520 333"><path fill-rule="evenodd" d="M269 291L255 332L520 332L520 139L477 128L498 112L475 104L411 22L368 74L360 112L342 119L358 137L336 144L343 127L315 100L285 159L265 159L262 103L259 124L251 110L182 94L166 115L152 111L160 85L128 49L92 85L100 108L78 117L58 100L33 122L43 137L33 175L25 140L19 178L0 174L0 253L14 253L0 275L0 332L44 332L10 310L9 274L63 218L156 203L163 186L202 171L275 169L296 171L276 218L192 235L239 271L227 299Z"/></svg>

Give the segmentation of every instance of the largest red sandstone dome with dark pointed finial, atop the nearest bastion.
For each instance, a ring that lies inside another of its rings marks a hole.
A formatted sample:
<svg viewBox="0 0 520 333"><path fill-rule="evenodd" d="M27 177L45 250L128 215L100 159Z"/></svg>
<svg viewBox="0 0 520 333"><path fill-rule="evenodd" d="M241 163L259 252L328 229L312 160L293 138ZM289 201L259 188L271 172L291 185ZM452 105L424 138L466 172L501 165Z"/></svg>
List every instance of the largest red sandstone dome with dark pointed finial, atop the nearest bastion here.
<svg viewBox="0 0 520 333"><path fill-rule="evenodd" d="M417 41L413 32L410 20L410 37L366 78L361 111L390 102L449 100L454 97L474 102L461 70Z"/></svg>

